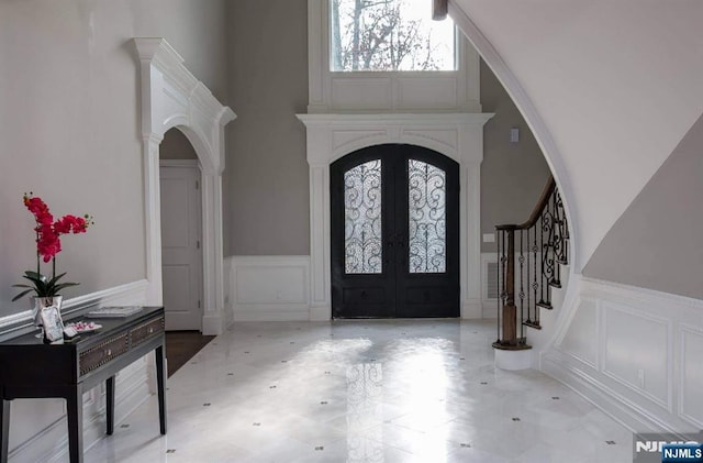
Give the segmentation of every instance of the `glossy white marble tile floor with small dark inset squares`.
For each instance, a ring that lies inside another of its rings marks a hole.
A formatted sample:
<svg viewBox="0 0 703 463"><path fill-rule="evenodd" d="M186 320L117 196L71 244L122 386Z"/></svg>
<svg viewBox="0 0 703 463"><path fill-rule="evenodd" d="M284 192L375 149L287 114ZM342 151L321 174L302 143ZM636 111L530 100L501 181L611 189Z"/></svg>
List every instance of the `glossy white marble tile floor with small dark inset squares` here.
<svg viewBox="0 0 703 463"><path fill-rule="evenodd" d="M493 366L494 322L235 323L86 462L632 462L632 433L560 383Z"/></svg>

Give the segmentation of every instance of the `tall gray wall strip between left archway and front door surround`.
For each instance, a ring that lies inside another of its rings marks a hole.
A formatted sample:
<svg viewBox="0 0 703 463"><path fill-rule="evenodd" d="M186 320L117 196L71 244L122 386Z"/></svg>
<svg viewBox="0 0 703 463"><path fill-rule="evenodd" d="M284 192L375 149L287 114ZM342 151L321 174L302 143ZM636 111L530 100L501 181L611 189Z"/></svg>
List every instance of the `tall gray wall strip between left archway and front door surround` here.
<svg viewBox="0 0 703 463"><path fill-rule="evenodd" d="M308 2L227 2L225 255L308 255Z"/></svg>

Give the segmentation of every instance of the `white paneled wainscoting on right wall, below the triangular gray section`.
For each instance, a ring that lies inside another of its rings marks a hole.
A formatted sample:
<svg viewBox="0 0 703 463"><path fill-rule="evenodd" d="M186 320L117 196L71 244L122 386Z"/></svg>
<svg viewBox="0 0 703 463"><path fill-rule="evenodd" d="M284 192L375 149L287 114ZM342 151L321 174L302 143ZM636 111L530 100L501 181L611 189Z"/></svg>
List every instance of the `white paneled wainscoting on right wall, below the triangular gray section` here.
<svg viewBox="0 0 703 463"><path fill-rule="evenodd" d="M703 300L572 275L540 368L633 431L703 428Z"/></svg>

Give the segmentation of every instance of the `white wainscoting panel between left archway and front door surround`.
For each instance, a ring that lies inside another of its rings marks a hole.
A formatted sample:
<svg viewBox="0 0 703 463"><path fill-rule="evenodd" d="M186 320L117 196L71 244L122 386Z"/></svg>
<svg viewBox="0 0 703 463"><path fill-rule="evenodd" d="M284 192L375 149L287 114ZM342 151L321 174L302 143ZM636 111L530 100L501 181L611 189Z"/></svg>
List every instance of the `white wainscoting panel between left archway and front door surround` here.
<svg viewBox="0 0 703 463"><path fill-rule="evenodd" d="M309 256L232 256L226 263L234 321L310 320Z"/></svg>

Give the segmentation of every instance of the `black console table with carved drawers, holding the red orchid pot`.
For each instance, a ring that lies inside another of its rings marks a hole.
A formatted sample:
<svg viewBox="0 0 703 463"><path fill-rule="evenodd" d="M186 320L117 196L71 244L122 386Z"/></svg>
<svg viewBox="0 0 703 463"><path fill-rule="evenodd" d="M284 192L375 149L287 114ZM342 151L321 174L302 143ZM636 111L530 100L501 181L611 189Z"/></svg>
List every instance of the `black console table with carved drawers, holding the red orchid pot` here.
<svg viewBox="0 0 703 463"><path fill-rule="evenodd" d="M70 320L67 320L70 321ZM10 400L66 399L71 463L83 461L83 392L105 382L107 433L114 430L114 376L152 351L156 353L159 425L166 433L164 309L145 307L124 318L91 319L102 328L70 343L43 344L36 332L0 342L0 463L8 461Z"/></svg>

